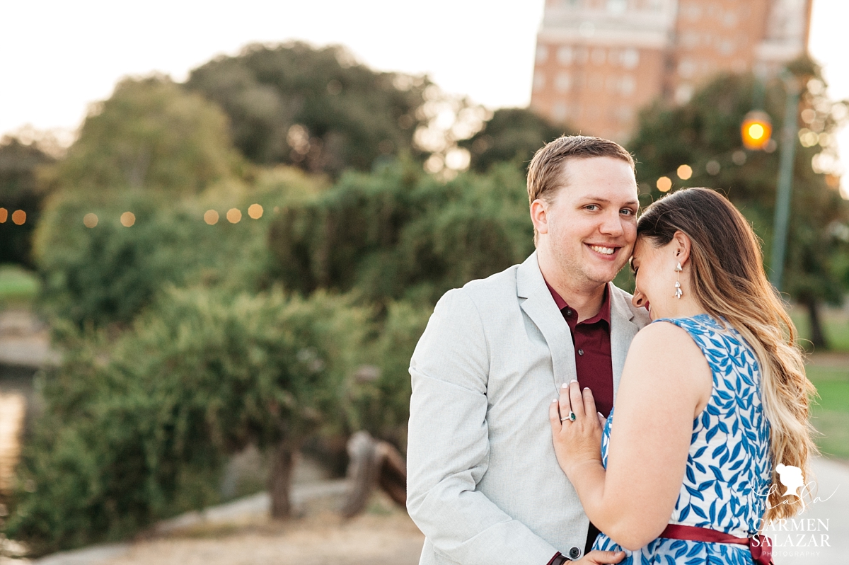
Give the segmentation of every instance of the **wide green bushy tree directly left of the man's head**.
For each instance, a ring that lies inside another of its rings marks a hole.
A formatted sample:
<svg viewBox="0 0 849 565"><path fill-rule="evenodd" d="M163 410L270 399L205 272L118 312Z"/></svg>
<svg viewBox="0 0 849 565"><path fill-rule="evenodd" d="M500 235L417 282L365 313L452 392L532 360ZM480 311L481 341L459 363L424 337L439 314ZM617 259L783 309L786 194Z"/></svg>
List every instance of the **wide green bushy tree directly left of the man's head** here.
<svg viewBox="0 0 849 565"><path fill-rule="evenodd" d="M430 304L533 251L525 178L513 164L443 183L409 161L281 211L269 246L287 288L357 291L385 307Z"/></svg>

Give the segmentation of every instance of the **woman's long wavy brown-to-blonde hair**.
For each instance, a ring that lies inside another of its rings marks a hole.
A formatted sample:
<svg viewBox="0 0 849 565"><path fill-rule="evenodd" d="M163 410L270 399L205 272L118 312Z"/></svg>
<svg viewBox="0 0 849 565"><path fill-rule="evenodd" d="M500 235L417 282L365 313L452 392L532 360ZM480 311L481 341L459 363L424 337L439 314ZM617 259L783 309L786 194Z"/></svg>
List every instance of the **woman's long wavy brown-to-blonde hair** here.
<svg viewBox="0 0 849 565"><path fill-rule="evenodd" d="M683 189L646 208L637 236L664 246L676 231L687 234L691 291L716 319L726 320L754 349L761 369L764 414L770 424L773 481L763 523L796 516L799 498L782 500L775 466L800 467L810 483L809 458L817 453L808 420L816 389L805 376L796 327L763 270L761 246L737 208L711 189Z"/></svg>

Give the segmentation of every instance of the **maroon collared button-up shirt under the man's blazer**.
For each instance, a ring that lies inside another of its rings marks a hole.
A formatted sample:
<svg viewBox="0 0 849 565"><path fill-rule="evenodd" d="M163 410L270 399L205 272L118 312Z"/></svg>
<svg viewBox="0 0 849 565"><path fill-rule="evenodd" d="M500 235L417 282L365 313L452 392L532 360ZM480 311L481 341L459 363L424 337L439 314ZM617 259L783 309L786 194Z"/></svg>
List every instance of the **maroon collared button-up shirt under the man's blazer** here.
<svg viewBox="0 0 849 565"><path fill-rule="evenodd" d="M599 314L578 322L578 313L548 286L554 303L569 325L575 346L575 369L581 388L593 391L596 410L606 418L613 408L613 365L610 361L610 289L604 286ZM556 347L556 346L554 346Z"/></svg>

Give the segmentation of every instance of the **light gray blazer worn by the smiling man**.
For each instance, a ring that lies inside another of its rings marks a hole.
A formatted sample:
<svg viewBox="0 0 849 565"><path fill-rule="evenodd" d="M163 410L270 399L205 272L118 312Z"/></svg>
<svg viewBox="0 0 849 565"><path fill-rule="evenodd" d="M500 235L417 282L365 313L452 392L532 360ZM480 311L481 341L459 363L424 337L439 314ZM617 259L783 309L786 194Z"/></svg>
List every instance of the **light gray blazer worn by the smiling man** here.
<svg viewBox="0 0 849 565"><path fill-rule="evenodd" d="M614 390L649 317L610 285ZM537 253L448 291L410 361L407 508L420 565L546 565L583 554L588 518L554 456L548 404L576 378Z"/></svg>

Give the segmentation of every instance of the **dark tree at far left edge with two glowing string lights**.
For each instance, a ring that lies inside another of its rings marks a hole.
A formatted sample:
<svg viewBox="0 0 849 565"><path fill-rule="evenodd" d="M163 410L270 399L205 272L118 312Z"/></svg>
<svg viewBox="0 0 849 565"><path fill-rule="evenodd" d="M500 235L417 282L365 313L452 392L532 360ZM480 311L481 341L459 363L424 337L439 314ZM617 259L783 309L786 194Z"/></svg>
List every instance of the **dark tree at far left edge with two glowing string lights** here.
<svg viewBox="0 0 849 565"><path fill-rule="evenodd" d="M31 238L41 211L43 191L37 183L37 169L53 158L37 144L25 144L16 137L0 139L0 207L6 217L0 223L0 263L20 263L32 267ZM13 220L22 210L25 221Z"/></svg>

